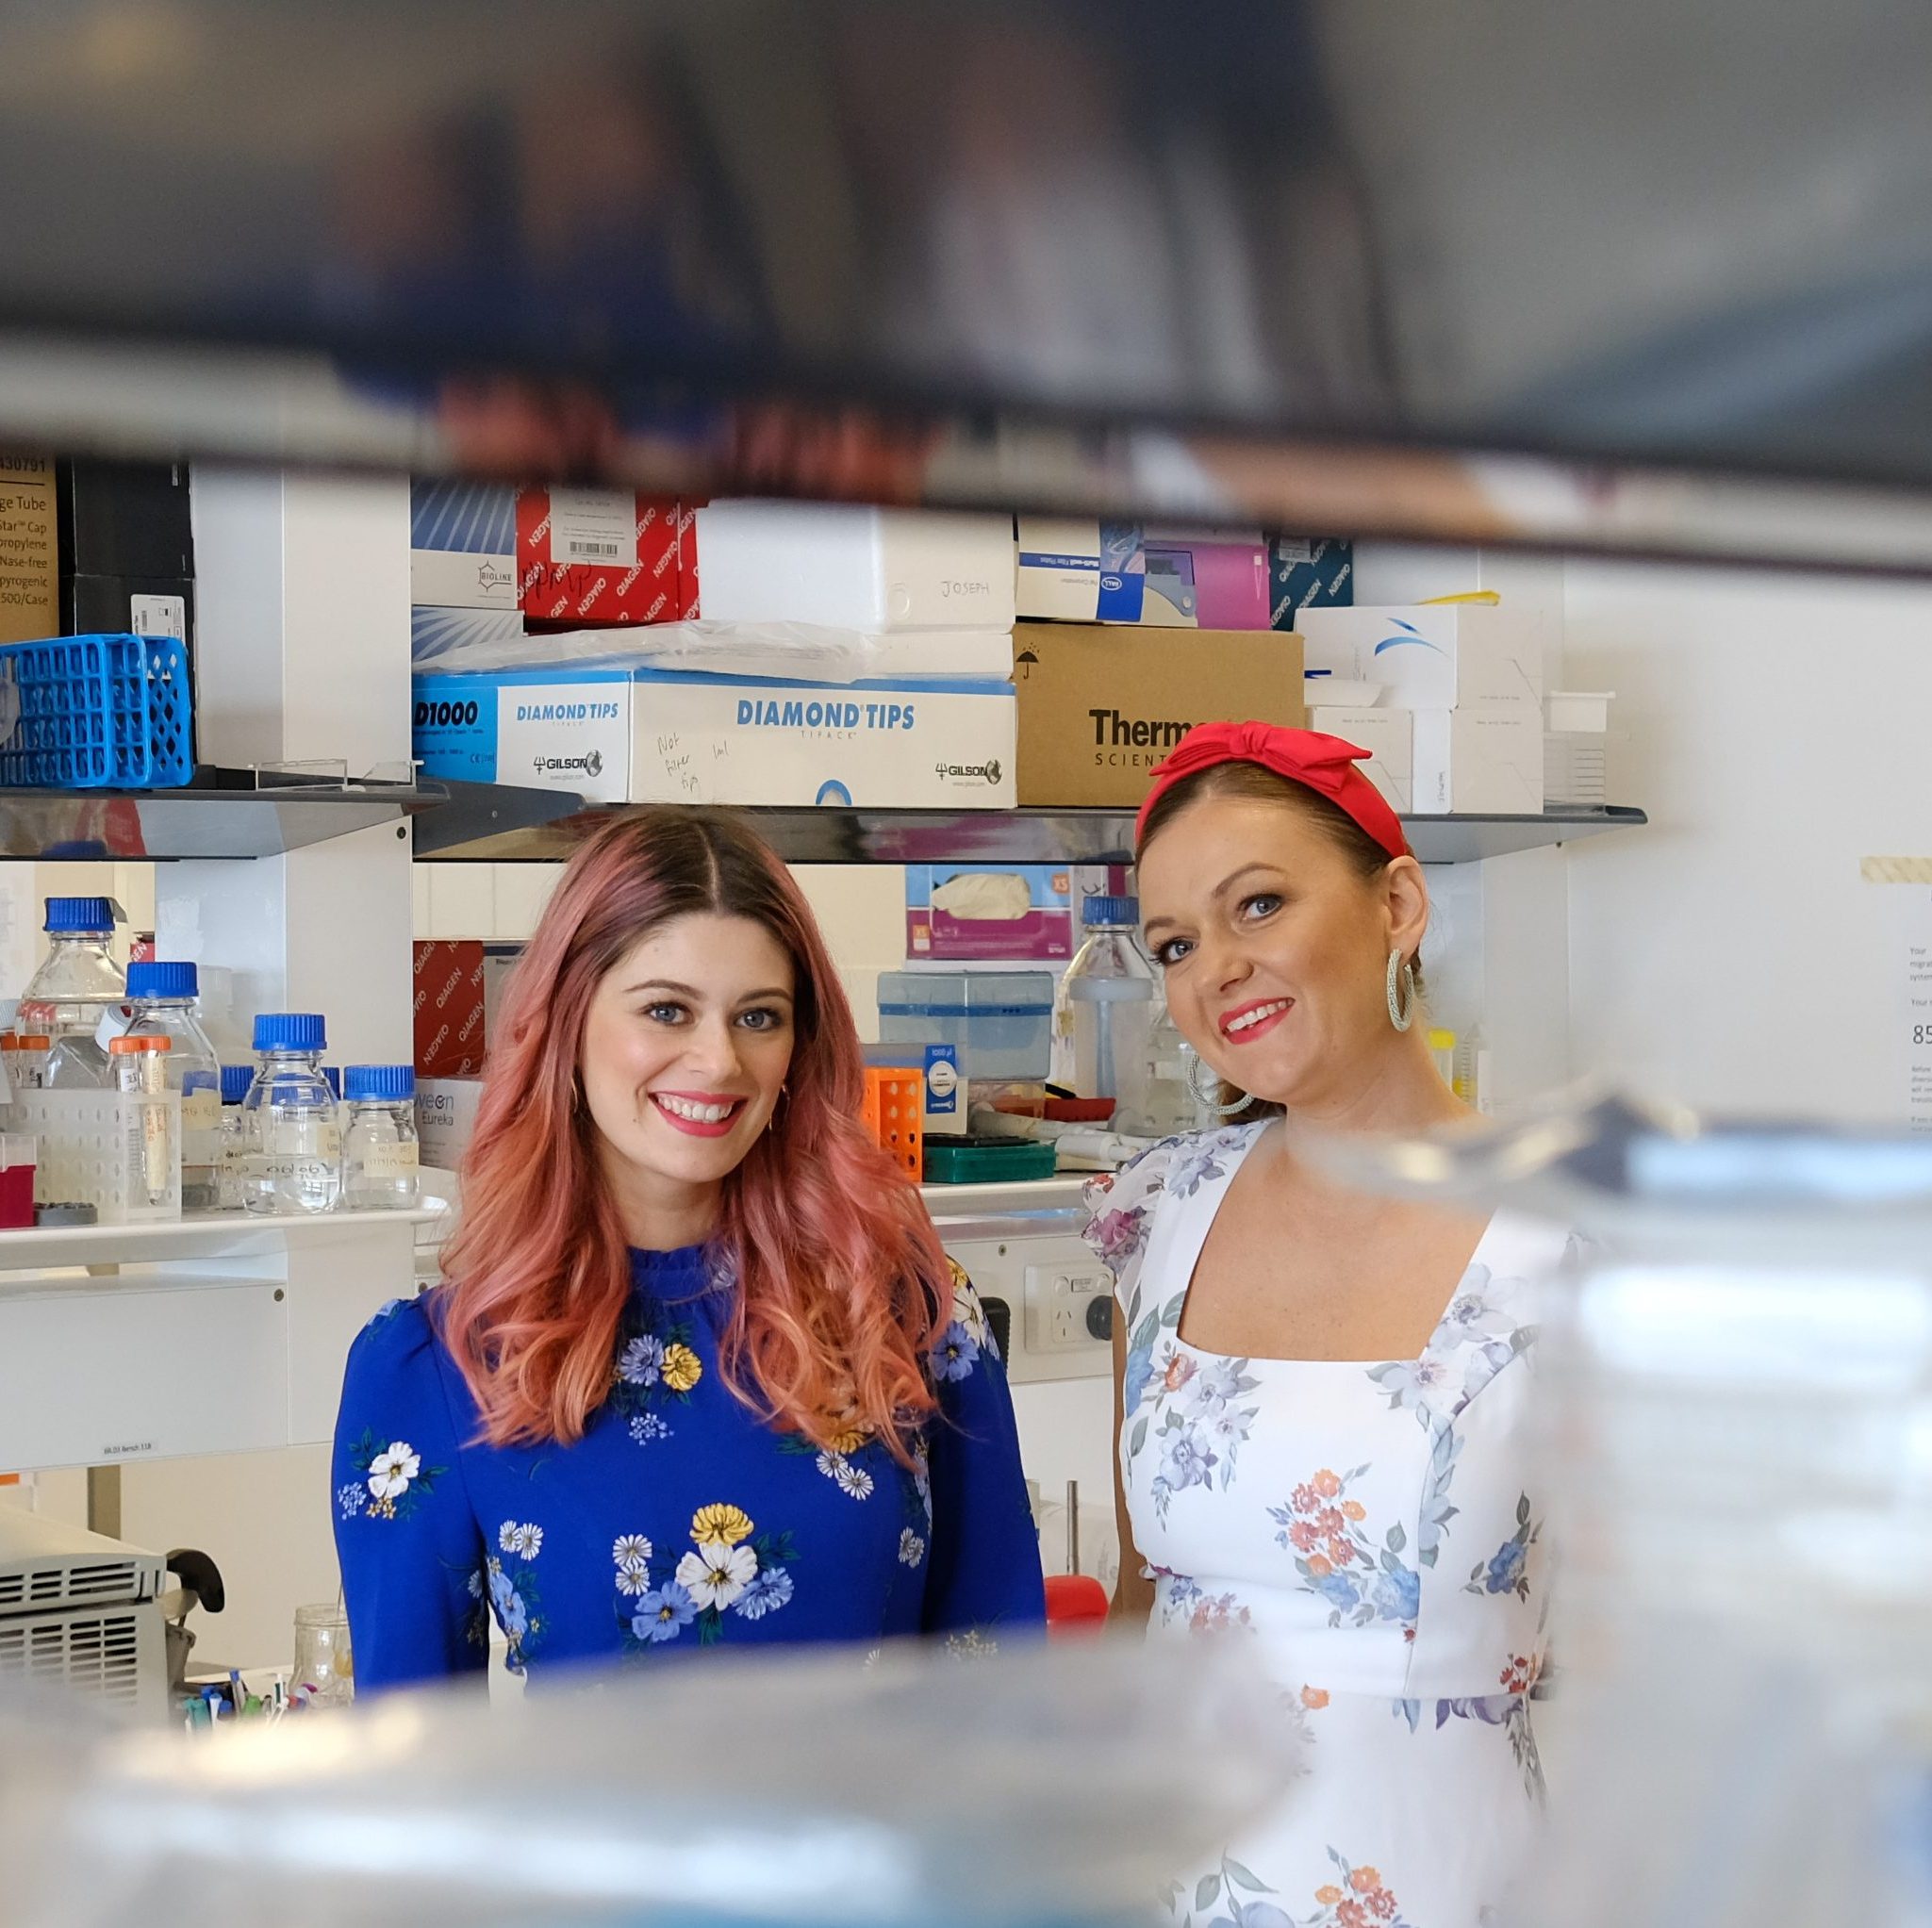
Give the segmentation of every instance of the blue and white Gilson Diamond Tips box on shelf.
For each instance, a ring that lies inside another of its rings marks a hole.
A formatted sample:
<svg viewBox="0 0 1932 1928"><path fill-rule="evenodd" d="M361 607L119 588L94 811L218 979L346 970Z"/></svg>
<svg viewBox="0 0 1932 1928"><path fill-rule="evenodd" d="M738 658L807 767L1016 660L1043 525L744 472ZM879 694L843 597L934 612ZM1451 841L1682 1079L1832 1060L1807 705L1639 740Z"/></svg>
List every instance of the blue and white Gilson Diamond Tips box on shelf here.
<svg viewBox="0 0 1932 1928"><path fill-rule="evenodd" d="M599 804L1014 802L1003 682L808 684L620 666L415 678L431 777Z"/></svg>

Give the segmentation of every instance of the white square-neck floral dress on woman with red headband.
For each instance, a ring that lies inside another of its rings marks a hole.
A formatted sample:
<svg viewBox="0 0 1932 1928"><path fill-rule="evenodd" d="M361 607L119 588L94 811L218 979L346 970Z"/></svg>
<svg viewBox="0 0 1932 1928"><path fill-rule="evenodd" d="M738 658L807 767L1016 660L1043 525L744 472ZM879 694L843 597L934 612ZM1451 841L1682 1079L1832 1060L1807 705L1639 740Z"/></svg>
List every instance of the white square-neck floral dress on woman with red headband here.
<svg viewBox="0 0 1932 1928"><path fill-rule="evenodd" d="M1165 1893L1182 1928L1476 1928L1530 1845L1544 1495L1532 1283L1563 1238L1490 1223L1416 1360L1229 1358L1179 1337L1262 1124L1155 1146L1088 1192L1128 1333L1121 1476L1150 1640L1254 1640L1302 1770Z"/></svg>

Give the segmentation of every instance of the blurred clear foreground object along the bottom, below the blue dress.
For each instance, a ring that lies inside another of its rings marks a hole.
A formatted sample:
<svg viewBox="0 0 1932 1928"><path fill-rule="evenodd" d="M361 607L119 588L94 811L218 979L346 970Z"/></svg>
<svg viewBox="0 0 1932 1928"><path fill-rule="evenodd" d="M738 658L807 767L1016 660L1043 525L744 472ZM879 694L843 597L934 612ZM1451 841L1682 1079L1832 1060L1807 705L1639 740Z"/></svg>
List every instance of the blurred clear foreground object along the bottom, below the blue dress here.
<svg viewBox="0 0 1932 1928"><path fill-rule="evenodd" d="M1225 1642L711 1654L199 1741L0 1702L0 1922L1124 1928L1293 1773L1269 1704Z"/></svg>

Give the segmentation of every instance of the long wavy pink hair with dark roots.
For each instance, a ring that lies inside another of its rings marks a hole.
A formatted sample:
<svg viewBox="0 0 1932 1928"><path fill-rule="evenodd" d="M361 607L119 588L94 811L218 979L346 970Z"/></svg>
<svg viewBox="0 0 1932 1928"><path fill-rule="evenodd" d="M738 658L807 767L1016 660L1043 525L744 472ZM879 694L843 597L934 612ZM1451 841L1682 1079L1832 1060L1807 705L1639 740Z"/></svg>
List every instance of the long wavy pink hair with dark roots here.
<svg viewBox="0 0 1932 1928"><path fill-rule="evenodd" d="M761 923L796 978L790 1097L724 1180L715 1233L738 1275L723 1375L782 1430L829 1445L864 1424L906 1460L933 1410L923 1360L951 1316L947 1262L918 1188L862 1122L858 1032L811 908L728 815L616 819L564 871L504 993L442 1258L444 1343L483 1437L583 1437L632 1290L597 1128L576 1103L583 1022L605 972L694 912Z"/></svg>

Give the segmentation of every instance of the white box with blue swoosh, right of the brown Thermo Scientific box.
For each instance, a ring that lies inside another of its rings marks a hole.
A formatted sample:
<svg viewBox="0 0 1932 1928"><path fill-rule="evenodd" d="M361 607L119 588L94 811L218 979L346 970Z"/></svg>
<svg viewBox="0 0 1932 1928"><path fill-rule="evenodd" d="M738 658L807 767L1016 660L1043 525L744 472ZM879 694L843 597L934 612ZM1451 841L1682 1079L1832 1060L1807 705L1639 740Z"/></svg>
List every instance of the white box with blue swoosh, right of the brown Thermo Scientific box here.
<svg viewBox="0 0 1932 1928"><path fill-rule="evenodd" d="M1542 715L1544 626L1480 603L1306 609L1308 668L1387 684L1397 709L1519 703Z"/></svg>

